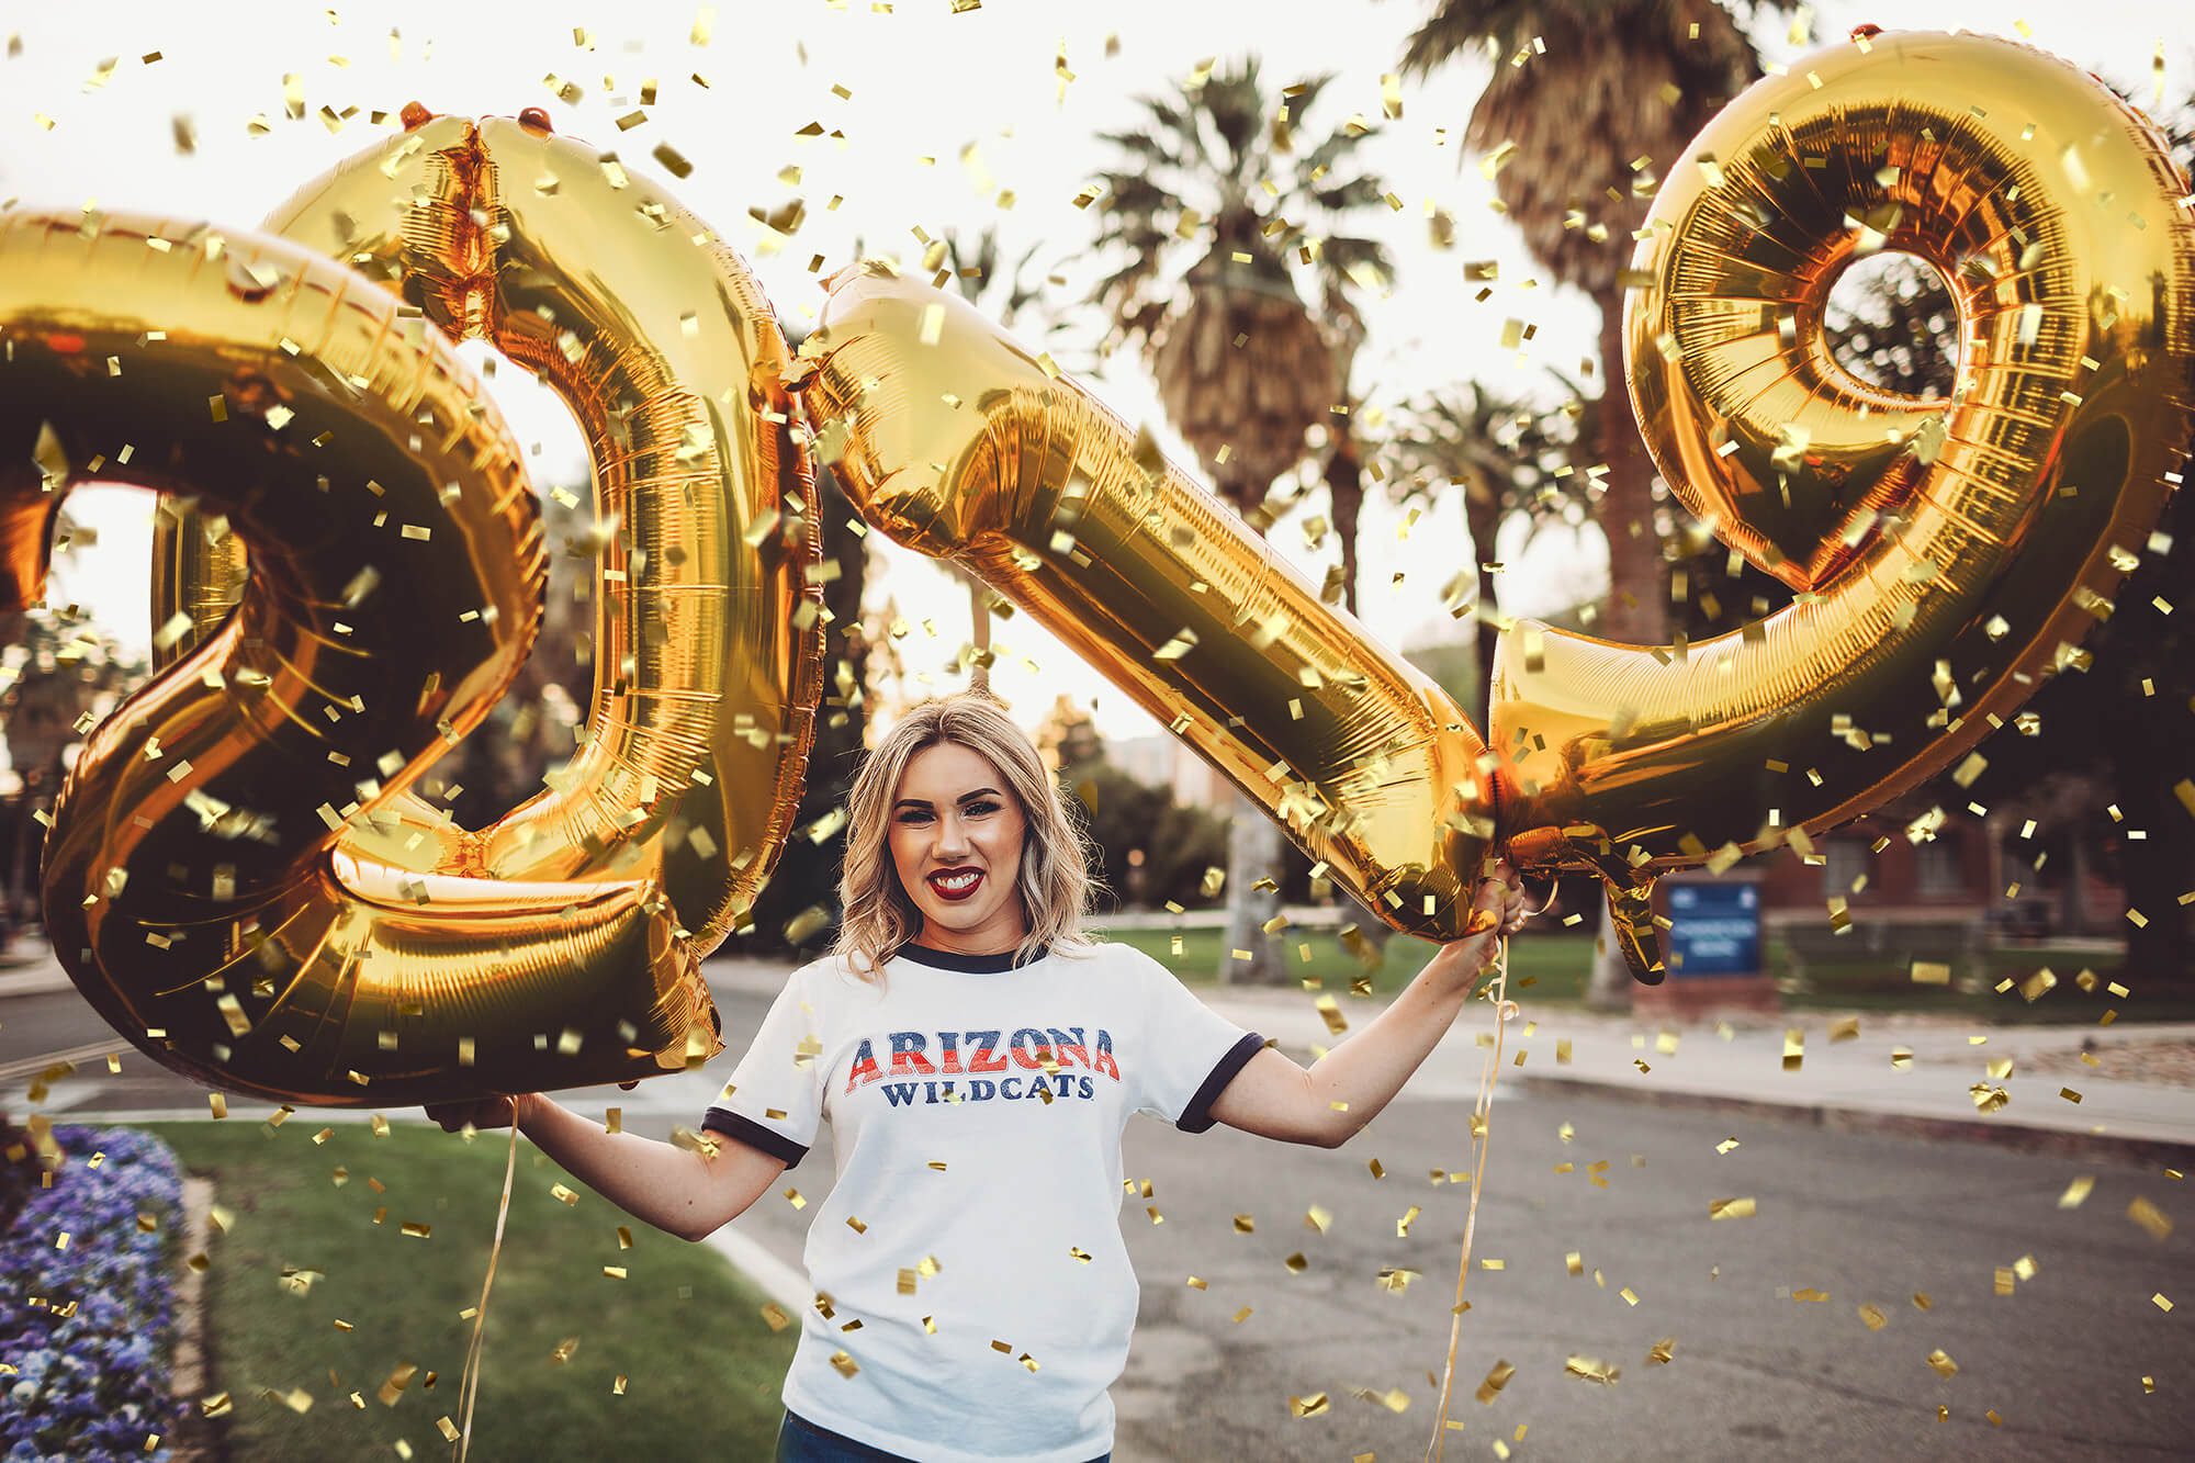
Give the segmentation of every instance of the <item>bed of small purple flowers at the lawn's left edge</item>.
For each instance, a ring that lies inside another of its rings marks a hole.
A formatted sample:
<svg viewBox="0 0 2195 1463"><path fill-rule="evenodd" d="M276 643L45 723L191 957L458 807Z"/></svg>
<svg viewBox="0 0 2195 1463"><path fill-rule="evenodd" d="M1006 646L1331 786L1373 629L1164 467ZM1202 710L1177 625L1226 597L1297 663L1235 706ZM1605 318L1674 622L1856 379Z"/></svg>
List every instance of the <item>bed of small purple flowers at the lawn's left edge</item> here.
<svg viewBox="0 0 2195 1463"><path fill-rule="evenodd" d="M68 1164L0 1235L0 1463L156 1459L182 1419L171 1395L182 1224L176 1153L127 1127L57 1127ZM92 1153L105 1153L97 1169ZM154 1232L138 1215L158 1219ZM68 1248L55 1241L68 1230ZM33 1307L31 1298L46 1303ZM55 1307L77 1309L55 1316ZM145 1452L147 1434L160 1448Z"/></svg>

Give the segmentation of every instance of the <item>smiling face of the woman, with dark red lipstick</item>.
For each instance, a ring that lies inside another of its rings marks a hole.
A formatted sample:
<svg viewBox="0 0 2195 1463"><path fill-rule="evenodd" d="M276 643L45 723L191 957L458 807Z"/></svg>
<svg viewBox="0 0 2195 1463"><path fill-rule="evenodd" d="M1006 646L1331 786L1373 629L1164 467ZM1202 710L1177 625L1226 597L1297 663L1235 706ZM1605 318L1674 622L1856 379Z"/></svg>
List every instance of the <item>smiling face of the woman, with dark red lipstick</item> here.
<svg viewBox="0 0 2195 1463"><path fill-rule="evenodd" d="M891 802L891 863L933 949L994 956L1021 945L1021 804L999 767L959 742L907 762Z"/></svg>

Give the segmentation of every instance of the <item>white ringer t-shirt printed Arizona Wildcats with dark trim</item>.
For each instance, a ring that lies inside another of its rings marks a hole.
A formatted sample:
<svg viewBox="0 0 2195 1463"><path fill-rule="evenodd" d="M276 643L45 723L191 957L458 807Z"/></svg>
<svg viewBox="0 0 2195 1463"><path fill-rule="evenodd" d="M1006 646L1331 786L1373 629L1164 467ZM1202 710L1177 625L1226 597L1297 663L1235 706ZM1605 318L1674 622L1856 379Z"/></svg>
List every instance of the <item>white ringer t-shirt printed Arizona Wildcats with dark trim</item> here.
<svg viewBox="0 0 2195 1463"><path fill-rule="evenodd" d="M784 1404L918 1463L1089 1463L1137 1307L1122 1129L1209 1129L1264 1039L1128 945L909 945L882 978L792 971L702 1118L788 1164L832 1125Z"/></svg>

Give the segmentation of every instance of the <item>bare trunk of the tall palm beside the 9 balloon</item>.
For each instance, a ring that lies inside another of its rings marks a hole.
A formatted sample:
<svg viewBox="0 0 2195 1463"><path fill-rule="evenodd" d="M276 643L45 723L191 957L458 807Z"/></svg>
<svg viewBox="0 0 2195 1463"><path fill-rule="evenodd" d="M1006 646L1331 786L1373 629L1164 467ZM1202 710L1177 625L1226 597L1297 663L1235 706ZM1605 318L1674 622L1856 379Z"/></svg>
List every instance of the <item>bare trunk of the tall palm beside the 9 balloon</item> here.
<svg viewBox="0 0 2195 1463"><path fill-rule="evenodd" d="M1609 538L1609 598L1594 626L1607 639L1659 646L1668 639L1668 589L1662 538L1653 529L1653 459L1640 437L1624 384L1624 299L1600 297L1600 459L1609 466L1600 499L1600 532ZM1631 967L1624 964L1613 920L1602 912L1594 942L1594 973L1585 1004L1596 1010L1631 1008Z"/></svg>

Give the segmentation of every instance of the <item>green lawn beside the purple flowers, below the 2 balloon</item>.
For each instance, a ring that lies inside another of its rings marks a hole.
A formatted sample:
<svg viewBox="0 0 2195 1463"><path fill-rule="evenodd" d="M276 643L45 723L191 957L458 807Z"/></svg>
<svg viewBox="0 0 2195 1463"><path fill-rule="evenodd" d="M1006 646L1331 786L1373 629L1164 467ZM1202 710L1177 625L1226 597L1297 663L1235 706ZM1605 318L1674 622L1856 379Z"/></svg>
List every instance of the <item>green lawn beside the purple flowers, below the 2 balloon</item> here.
<svg viewBox="0 0 2195 1463"><path fill-rule="evenodd" d="M472 1320L459 1311L481 1296L509 1133L468 1144L421 1123L393 1123L386 1138L345 1123L314 1144L309 1109L272 1131L235 1120L147 1127L184 1169L213 1175L215 1204L235 1210L206 1272L209 1393L230 1395L228 1452L448 1456L437 1419L461 1412ZM577 1204L551 1184L577 1191ZM406 1235L410 1221L430 1226L428 1237ZM606 1265L623 1265L626 1278ZM283 1283L292 1270L320 1274L296 1294ZM628 1219L520 1140L472 1456L768 1456L799 1316L773 1331L766 1303L716 1250ZM417 1375L384 1406L382 1384L404 1364Z"/></svg>

